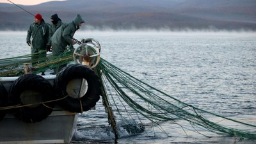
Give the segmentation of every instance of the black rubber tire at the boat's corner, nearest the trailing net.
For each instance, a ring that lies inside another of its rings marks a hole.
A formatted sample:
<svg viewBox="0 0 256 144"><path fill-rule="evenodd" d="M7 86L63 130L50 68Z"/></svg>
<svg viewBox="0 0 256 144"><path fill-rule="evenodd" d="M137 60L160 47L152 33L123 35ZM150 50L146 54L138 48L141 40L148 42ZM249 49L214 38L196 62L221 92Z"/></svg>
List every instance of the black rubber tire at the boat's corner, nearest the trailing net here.
<svg viewBox="0 0 256 144"><path fill-rule="evenodd" d="M91 68L81 64L65 67L57 74L54 81L54 88L59 98L65 97L68 95L66 90L68 82L77 78L86 79L88 83L87 92L79 99L74 99L69 96L66 97L61 100L61 106L70 112L82 113L83 111L88 111L93 108L100 99L99 77Z"/></svg>

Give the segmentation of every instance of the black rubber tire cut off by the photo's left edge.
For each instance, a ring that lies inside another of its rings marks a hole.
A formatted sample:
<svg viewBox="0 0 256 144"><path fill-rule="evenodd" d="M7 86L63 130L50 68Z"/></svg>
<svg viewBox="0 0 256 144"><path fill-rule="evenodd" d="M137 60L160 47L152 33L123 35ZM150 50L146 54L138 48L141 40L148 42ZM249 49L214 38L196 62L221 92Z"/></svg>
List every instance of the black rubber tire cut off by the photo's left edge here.
<svg viewBox="0 0 256 144"><path fill-rule="evenodd" d="M2 83L0 83L0 108L7 106L8 93ZM0 120L4 118L6 110L0 109Z"/></svg>

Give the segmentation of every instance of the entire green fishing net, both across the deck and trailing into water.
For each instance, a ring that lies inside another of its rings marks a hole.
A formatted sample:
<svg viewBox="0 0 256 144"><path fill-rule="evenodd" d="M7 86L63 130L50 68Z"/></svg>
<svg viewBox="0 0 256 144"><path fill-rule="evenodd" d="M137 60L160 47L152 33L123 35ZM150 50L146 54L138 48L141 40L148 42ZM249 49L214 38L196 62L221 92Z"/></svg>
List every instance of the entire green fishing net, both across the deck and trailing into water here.
<svg viewBox="0 0 256 144"><path fill-rule="evenodd" d="M72 51L65 51L61 56L48 54L46 58L33 61L31 55L1 59L0 77L21 76L24 71L23 63L35 63L33 73L38 74L70 63L72 60ZM179 125L184 132L188 129L203 134L201 131L204 130L228 136L256 138L256 125L239 122L186 104L136 79L103 58L94 70L102 83L102 101L116 137L118 124L126 125L130 128L129 131L134 129L142 132L143 125L149 121L164 132L161 124L168 121L170 124ZM131 120L138 125L132 127ZM180 120L188 122L190 127L180 124Z"/></svg>

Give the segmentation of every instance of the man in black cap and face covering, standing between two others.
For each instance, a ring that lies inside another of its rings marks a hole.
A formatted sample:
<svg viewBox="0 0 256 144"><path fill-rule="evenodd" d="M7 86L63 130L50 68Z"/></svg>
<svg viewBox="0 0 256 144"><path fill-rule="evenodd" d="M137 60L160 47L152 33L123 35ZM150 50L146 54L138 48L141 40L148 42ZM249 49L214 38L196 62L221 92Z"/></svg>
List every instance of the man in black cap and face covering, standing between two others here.
<svg viewBox="0 0 256 144"><path fill-rule="evenodd" d="M60 28L60 26L62 26L63 22L61 21L61 19L58 17L57 13L55 13L54 15L51 16L51 26L49 29L49 42L47 44L47 51L52 51L51 50L51 37L54 34L54 32Z"/></svg>

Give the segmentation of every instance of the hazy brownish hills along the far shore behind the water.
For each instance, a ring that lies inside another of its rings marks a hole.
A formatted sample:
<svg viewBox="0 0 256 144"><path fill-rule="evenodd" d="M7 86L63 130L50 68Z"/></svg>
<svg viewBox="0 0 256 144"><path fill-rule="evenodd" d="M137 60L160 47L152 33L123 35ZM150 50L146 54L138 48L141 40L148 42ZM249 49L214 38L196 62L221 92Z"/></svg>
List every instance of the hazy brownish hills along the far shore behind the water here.
<svg viewBox="0 0 256 144"><path fill-rule="evenodd" d="M256 30L255 0L67 0L34 6L46 22L58 13L70 22L77 13L83 29L252 29ZM0 30L27 30L33 16L14 4L0 3Z"/></svg>

